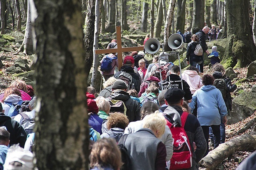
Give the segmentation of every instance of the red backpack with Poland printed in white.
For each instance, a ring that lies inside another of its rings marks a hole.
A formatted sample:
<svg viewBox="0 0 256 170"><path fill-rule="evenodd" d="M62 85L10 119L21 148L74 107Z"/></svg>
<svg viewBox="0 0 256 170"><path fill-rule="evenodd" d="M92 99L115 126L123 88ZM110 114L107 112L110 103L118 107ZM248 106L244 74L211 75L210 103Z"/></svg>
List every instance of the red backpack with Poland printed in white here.
<svg viewBox="0 0 256 170"><path fill-rule="evenodd" d="M171 158L170 170L188 169L192 167L192 150L188 140L188 135L184 129L186 119L188 117L187 112L183 112L181 115L181 127L174 127L169 120L172 120L167 114L164 114L166 118L166 125L172 132L173 143L173 155Z"/></svg>

